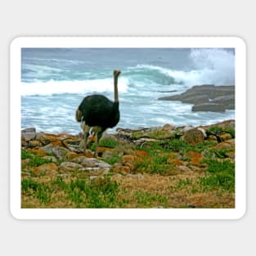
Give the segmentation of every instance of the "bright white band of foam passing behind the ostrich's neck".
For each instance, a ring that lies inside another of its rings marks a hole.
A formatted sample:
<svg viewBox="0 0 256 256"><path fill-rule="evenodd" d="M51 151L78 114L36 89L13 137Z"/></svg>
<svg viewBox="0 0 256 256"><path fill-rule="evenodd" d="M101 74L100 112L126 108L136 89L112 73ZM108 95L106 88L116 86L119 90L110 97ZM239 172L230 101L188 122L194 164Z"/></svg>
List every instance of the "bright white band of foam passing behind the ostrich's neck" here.
<svg viewBox="0 0 256 256"><path fill-rule="evenodd" d="M113 92L113 79L94 79L94 80L73 80L73 81L55 81L21 83L21 95L53 95L64 93L86 94L89 92ZM127 92L128 79L119 79L119 92Z"/></svg>

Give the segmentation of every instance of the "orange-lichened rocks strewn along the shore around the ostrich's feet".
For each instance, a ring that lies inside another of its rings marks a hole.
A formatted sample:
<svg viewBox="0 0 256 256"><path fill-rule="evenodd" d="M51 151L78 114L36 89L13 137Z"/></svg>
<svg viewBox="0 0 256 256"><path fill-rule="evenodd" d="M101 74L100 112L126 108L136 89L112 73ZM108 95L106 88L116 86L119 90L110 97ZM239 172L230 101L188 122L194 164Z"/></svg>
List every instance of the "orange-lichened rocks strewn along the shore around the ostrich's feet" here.
<svg viewBox="0 0 256 256"><path fill-rule="evenodd" d="M215 133L209 132L211 127L218 127L220 130ZM51 161L51 163L42 164L34 168L34 173L48 172L51 175L58 175L70 169L88 171L93 175L109 173L110 170L115 173L122 173L123 171L124 173L136 173L132 162L146 155L146 151L142 150L143 147L147 147L153 142L162 142L164 144L173 139L182 140L186 144L194 146L204 141L215 141L217 145L213 148L229 147L231 149L229 158L234 161L235 139L230 133L224 132L227 129L235 130L234 120L197 128L189 126L174 127L171 124L138 130L118 128L115 134L106 135L106 138L109 137L111 141L114 141L119 146L100 146L100 159L94 159L92 158L92 150L88 150L85 154L83 153L83 137L81 135L36 132L35 128L27 128L21 131L21 149L28 150L34 155L42 156L44 159ZM90 140L94 141L95 138L91 137ZM134 146L140 147L141 150L133 150ZM193 154L200 159L206 154L206 151L201 154ZM119 155L120 162L113 165L107 164L107 160L113 155ZM181 159L181 156L177 156L177 159ZM177 161L179 165L175 164L174 166L177 173L185 169L186 171L193 171L200 167L200 164L191 165L189 160L191 159L188 159L187 162L184 161L183 155L182 160ZM27 168L28 164L29 162L26 159L21 162L22 168ZM23 174L25 175L25 173Z"/></svg>

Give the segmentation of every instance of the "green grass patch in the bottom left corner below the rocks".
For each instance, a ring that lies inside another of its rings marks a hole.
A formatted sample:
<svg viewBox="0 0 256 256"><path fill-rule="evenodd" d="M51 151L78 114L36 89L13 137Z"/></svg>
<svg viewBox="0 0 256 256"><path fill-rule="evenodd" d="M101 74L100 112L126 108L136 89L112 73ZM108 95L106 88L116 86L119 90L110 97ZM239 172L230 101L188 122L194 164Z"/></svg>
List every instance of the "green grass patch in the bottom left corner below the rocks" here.
<svg viewBox="0 0 256 256"><path fill-rule="evenodd" d="M38 199L42 206L51 205L52 198L61 194L61 199L70 201L75 208L113 208L117 206L119 185L110 177L92 181L74 178L70 182L57 177L49 184L26 178L21 182L21 191L24 196Z"/></svg>

